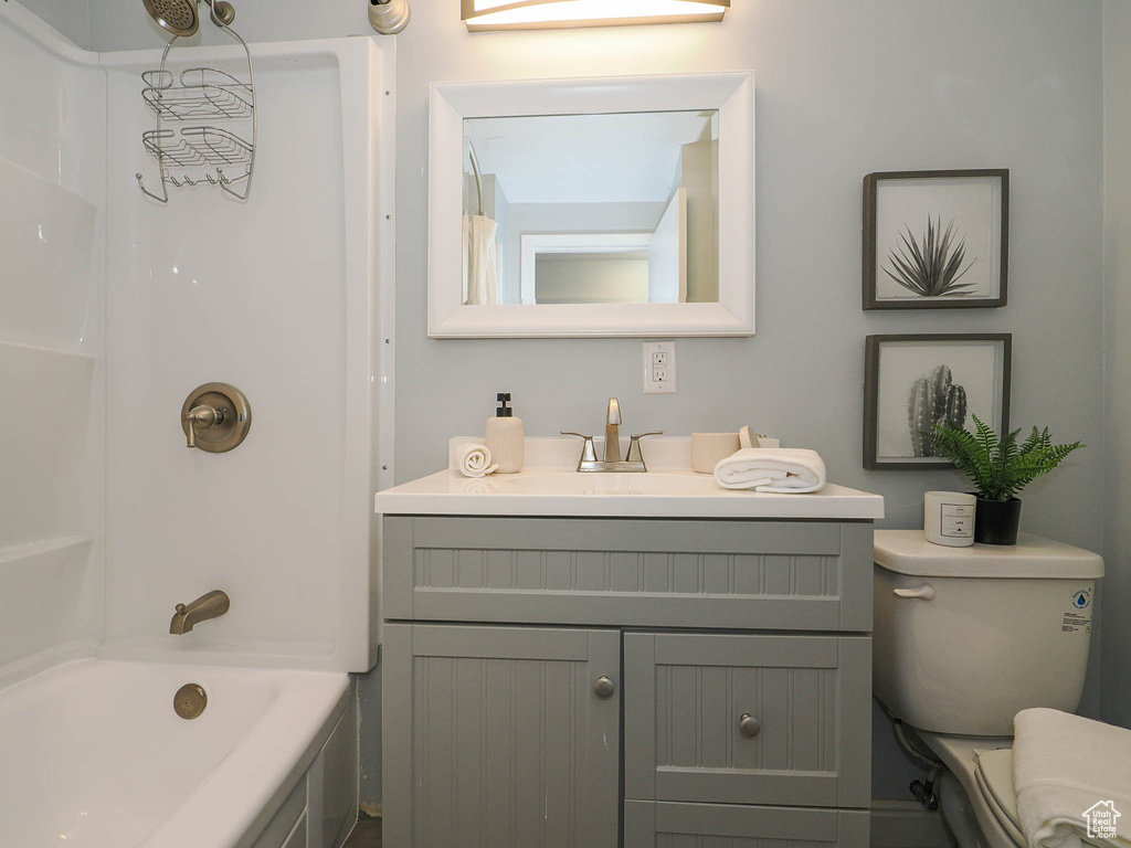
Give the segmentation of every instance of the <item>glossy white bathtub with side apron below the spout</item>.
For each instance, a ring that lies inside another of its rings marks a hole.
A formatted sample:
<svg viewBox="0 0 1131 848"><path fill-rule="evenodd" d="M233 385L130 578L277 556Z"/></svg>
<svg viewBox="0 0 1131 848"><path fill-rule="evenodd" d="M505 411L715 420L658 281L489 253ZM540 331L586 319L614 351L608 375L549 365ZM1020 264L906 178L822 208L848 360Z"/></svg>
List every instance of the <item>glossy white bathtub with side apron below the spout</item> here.
<svg viewBox="0 0 1131 848"><path fill-rule="evenodd" d="M192 720L173 711L185 683L208 696ZM356 813L352 702L345 674L50 668L0 690L0 845L335 848Z"/></svg>

